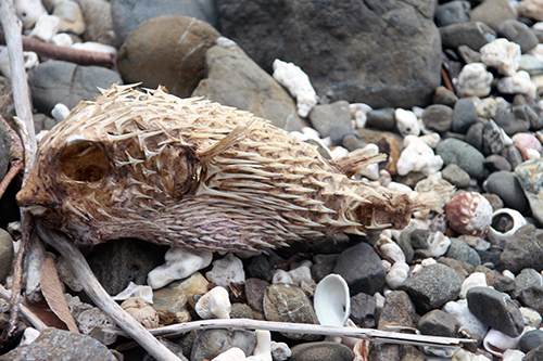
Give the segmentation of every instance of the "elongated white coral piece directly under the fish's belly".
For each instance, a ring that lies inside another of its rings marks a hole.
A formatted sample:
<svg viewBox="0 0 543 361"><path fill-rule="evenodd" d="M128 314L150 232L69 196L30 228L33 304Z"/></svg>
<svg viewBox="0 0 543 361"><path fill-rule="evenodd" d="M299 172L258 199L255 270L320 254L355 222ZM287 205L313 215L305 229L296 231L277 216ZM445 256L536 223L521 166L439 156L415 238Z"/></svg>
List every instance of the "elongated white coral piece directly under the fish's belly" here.
<svg viewBox="0 0 543 361"><path fill-rule="evenodd" d="M172 281L188 278L195 271L210 266L213 253L172 247L164 258L166 263L159 266L147 276L147 283L153 289L162 288Z"/></svg>

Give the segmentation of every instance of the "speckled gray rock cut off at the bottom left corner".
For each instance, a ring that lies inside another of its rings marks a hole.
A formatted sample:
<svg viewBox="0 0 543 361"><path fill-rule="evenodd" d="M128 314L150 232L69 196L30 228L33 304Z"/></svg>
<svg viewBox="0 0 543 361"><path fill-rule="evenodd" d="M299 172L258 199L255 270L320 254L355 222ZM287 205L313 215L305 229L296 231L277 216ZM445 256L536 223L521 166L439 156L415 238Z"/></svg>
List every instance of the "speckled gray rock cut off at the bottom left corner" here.
<svg viewBox="0 0 543 361"><path fill-rule="evenodd" d="M117 359L108 347L90 336L51 327L43 330L30 345L20 346L0 356L0 360L116 361Z"/></svg>

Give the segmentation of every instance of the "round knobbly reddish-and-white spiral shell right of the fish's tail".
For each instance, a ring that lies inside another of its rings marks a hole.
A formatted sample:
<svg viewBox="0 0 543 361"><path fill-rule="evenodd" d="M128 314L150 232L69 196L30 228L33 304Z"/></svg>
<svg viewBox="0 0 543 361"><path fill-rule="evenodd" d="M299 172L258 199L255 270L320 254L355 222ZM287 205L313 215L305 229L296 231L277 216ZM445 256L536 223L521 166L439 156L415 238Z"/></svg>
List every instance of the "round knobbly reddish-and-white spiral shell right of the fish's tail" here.
<svg viewBox="0 0 543 361"><path fill-rule="evenodd" d="M492 206L477 192L464 192L446 205L449 225L462 234L482 235L492 223Z"/></svg>

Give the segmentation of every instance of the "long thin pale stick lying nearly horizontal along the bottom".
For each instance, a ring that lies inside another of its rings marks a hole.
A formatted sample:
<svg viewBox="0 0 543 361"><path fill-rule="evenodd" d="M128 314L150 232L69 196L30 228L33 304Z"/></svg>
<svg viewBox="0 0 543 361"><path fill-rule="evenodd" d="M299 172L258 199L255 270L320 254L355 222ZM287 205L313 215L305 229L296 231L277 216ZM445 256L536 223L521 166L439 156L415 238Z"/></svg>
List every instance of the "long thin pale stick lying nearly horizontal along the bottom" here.
<svg viewBox="0 0 543 361"><path fill-rule="evenodd" d="M362 338L371 341L381 341L388 344L415 345L415 346L437 346L437 347L462 347L463 344L476 343L469 338L453 338L427 335L403 334L399 332L389 332L374 328L355 328L355 327L331 327L321 326L310 323L289 323L289 322L272 322L258 321L250 319L232 319L232 320L202 320L185 322L164 326L160 328L149 330L154 336L172 336L185 334L192 330L205 328L250 328L250 330L269 330L278 332L295 332L302 334L326 335L326 336L345 336ZM118 335L126 335L118 328L104 328L106 332L114 332Z"/></svg>

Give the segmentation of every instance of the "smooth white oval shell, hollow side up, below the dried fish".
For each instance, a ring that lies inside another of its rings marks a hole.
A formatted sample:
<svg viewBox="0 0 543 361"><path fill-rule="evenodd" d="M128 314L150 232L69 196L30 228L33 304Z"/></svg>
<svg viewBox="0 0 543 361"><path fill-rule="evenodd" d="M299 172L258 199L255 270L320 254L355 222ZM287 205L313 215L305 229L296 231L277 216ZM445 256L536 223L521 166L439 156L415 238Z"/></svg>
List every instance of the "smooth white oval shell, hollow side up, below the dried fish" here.
<svg viewBox="0 0 543 361"><path fill-rule="evenodd" d="M345 280L339 274L328 274L317 284L313 302L323 326L342 327L351 313L351 295Z"/></svg>

